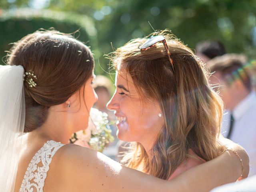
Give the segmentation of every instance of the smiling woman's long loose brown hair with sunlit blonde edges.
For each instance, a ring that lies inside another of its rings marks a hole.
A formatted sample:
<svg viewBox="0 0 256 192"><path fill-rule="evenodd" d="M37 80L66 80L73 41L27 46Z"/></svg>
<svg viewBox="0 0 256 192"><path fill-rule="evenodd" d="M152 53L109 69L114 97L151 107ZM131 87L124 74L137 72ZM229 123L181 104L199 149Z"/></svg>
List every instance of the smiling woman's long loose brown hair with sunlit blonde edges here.
<svg viewBox="0 0 256 192"><path fill-rule="evenodd" d="M135 143L123 161L131 168L168 179L190 157L189 149L206 161L224 150L217 140L223 104L208 84L204 63L192 50L170 30L158 34L166 38L174 72L162 43L148 50L138 48L146 38L131 40L113 52L110 59L116 70L126 69L142 100L160 104L164 118L151 150L152 159L140 143Z"/></svg>

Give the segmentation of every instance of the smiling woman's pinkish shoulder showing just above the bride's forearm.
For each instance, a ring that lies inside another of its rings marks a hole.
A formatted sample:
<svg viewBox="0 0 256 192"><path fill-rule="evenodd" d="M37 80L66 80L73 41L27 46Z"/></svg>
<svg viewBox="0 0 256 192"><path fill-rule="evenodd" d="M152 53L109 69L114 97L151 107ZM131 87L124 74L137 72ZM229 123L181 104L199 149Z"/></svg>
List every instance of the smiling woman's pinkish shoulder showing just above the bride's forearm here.
<svg viewBox="0 0 256 192"><path fill-rule="evenodd" d="M179 174L181 174L182 172L189 170L195 166L198 166L204 162L206 162L206 160L200 158L197 154L194 153L194 151L192 151L191 149L188 150L188 154L190 154L191 156L194 156L198 159L194 159L194 158L188 158L188 160L182 162L180 164L180 166L178 166L178 168L174 171L174 173L170 176L170 178L168 180L171 180L173 178L175 178L176 176L178 176Z"/></svg>

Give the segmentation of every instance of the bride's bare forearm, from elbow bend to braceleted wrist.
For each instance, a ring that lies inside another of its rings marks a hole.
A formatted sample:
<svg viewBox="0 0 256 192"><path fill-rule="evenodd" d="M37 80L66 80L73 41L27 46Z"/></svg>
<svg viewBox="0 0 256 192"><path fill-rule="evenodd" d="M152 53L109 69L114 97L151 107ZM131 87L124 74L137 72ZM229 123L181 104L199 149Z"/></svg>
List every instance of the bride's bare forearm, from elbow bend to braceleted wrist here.
<svg viewBox="0 0 256 192"><path fill-rule="evenodd" d="M245 151L240 151L242 153L246 156ZM233 152L226 151L219 157L180 174L173 181L182 182L182 192L208 192L216 186L236 181L241 170L239 158ZM248 173L244 172L243 175L247 177Z"/></svg>

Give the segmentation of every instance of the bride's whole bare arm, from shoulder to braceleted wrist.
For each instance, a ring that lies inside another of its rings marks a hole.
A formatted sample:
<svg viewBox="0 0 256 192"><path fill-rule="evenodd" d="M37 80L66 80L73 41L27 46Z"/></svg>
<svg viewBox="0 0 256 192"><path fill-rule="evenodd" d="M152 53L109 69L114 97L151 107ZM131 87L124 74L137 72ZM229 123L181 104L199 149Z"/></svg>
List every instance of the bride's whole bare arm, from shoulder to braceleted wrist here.
<svg viewBox="0 0 256 192"><path fill-rule="evenodd" d="M242 148L240 155L246 161ZM61 149L60 149L61 150ZM58 186L56 191L72 192L194 192L234 182L241 174L238 157L224 152L218 158L196 166L171 181L161 180L127 168L88 148L68 145L58 153Z"/></svg>

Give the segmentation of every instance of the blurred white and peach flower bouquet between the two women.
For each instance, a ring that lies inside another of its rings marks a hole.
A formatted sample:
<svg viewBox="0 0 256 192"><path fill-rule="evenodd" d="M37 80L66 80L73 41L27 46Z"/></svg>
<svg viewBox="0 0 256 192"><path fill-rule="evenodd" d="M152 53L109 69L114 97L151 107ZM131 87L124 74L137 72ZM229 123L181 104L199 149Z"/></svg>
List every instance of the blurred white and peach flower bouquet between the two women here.
<svg viewBox="0 0 256 192"><path fill-rule="evenodd" d="M110 142L114 141L111 133L108 114L92 108L90 110L88 128L72 134L70 143L102 152Z"/></svg>

